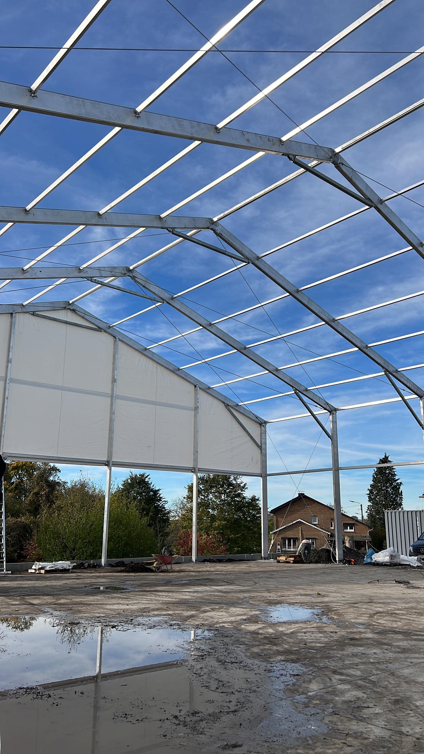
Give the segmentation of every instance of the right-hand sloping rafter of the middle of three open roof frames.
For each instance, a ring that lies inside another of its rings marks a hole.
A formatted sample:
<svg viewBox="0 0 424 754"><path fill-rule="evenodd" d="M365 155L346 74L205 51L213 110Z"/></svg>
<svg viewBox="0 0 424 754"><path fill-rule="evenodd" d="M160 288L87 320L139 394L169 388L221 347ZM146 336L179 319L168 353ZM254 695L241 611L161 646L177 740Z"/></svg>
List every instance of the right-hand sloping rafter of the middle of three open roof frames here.
<svg viewBox="0 0 424 754"><path fill-rule="evenodd" d="M299 288L296 288L293 283L290 283L290 280L287 280L287 277L284 277L280 272L275 270L275 268L269 265L268 262L264 262L263 259L260 259L260 256L257 256L257 254L255 254L249 247L247 247L246 244L243 244L243 242L236 238L235 235L230 233L230 231L228 231L226 228L223 228L223 225L216 223L213 229L218 238L221 238L221 240L232 247L232 249L238 251L241 256L244 256L244 258L253 265L253 267L256 267L258 270L263 272L266 277L269 277L269 280L272 280L275 284L285 290L286 293L290 293L290 296L292 296L293 299L303 305L303 307L308 309L308 311L311 311L312 314L315 314L318 319L326 323L331 329L345 338L349 343L355 345L359 349L359 351L362 351L363 354L365 354L376 364L381 366L382 369L386 369L386 371L389 372L393 377L395 377L398 382L401 382L401 384L404 385L405 388L412 391L419 397L424 397L424 391L419 387L419 385L416 385L406 375L404 375L402 372L399 372L399 370L396 369L396 367L392 363L383 358L383 356L380 356L377 351L374 351L373 348L370 348L367 343L365 343L361 338L355 335L355 333L352 333L352 330L341 324L331 314L325 311L324 308L310 299L309 296L306 296L306 293L303 293L303 291L299 290Z"/></svg>

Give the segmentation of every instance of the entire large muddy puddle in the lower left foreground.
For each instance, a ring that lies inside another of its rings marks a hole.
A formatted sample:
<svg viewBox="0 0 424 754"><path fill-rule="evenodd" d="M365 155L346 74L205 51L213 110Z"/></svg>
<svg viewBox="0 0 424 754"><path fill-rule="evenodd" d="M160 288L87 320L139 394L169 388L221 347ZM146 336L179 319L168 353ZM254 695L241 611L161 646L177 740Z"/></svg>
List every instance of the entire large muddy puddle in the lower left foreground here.
<svg viewBox="0 0 424 754"><path fill-rule="evenodd" d="M210 754L235 744L259 750L251 743L264 740L284 746L325 730L308 700L297 710L286 697L302 667L273 664L269 672L246 664L240 648L221 646L222 639L202 653L196 640L209 632L156 625L0 620L0 688L20 687L0 693L2 752ZM178 662L183 657L192 658L194 672Z"/></svg>

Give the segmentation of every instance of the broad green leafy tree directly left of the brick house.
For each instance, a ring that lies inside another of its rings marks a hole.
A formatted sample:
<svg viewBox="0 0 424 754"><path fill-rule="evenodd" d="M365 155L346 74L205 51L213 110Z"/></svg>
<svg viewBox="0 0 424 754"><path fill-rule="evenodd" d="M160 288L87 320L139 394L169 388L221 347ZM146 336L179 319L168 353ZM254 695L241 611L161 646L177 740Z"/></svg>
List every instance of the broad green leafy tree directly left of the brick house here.
<svg viewBox="0 0 424 754"><path fill-rule="evenodd" d="M175 541L192 528L193 486L174 507L171 533ZM198 477L198 532L220 538L227 553L253 553L261 550L260 501L247 495L241 477L201 474Z"/></svg>

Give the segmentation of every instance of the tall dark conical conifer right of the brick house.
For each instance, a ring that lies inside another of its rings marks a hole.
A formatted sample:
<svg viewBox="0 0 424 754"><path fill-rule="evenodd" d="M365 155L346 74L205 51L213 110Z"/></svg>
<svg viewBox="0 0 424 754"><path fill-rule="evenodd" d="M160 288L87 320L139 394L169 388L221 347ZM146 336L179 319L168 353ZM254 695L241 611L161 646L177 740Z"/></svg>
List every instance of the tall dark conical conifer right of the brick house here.
<svg viewBox="0 0 424 754"><path fill-rule="evenodd" d="M379 464L390 463L387 453L379 459ZM376 467L367 492L367 522L372 529L370 533L373 544L382 547L386 537L385 510L400 510L404 507L404 495L401 490L395 467Z"/></svg>

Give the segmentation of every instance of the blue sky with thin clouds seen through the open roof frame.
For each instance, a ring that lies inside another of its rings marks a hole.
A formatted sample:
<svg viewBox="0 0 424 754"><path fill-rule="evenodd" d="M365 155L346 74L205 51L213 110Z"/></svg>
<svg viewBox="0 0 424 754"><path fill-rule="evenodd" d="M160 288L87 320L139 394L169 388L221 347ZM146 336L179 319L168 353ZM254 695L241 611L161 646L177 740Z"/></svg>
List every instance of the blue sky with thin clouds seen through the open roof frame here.
<svg viewBox="0 0 424 754"><path fill-rule="evenodd" d="M74 0L67 4L24 2L17 0L2 9L2 41L10 45L60 45L94 5ZM208 38L235 16L244 2L216 0L198 3L179 0L180 11ZM246 50L311 51L373 7L373 2L357 0L341 3L338 0L265 0L238 28L220 44L223 49L244 50L228 53L234 63L258 87L265 87L306 57L306 53L252 53ZM306 23L307 19L307 23ZM324 108L355 90L389 66L406 57L407 51L422 44L424 21L419 0L395 0L382 13L341 42L335 51L324 54L278 87L271 95L274 103L262 100L232 126L283 136L292 130L293 121L303 124ZM88 29L79 46L123 48L190 48L204 44L199 32L165 0L155 3L140 0L112 0L97 21ZM402 51L399 54L348 54L352 50ZM345 51L342 54L342 51ZM17 84L30 85L53 57L48 50L1 50L1 78ZM129 51L71 51L68 57L45 84L46 89L89 97L95 100L137 106L171 75L191 53L189 52L129 52ZM336 109L306 128L299 139L327 146L339 146L354 136L412 105L422 94L422 57L408 63L358 97ZM195 120L218 123L243 105L257 89L219 53L210 53L177 81L151 109L167 115L179 115ZM284 115L284 111L287 115ZM0 109L0 118L7 111ZM389 189L372 183L380 195L404 189L424 176L422 156L422 110L376 133L344 153L353 167L366 173ZM290 120L292 119L292 120ZM99 139L106 135L106 127L78 123L65 119L20 113L13 124L0 136L0 158L3 180L0 185L0 204L26 205L45 189L63 170L66 170ZM40 206L99 210L128 191L164 161L187 146L180 140L131 131L119 133L91 160L73 173L51 193ZM198 192L250 156L240 150L202 145L178 161L160 176L148 182L131 197L117 205L122 212L163 213L177 202ZM327 172L329 169L326 169ZM210 191L195 198L178 210L180 213L215 216L266 186L293 172L286 158L267 155L220 182ZM338 176L336 176L338 177ZM407 198L397 198L391 207L420 236L424 235L424 188L414 189ZM419 203L419 204L416 204ZM358 208L358 202L318 182L314 176L302 176L269 193L232 214L223 224L257 253L284 244L313 228L330 222ZM72 228L58 226L14 226L0 237L0 264L24 265L32 259L32 247L42 247L35 256L51 244L57 243ZM72 239L74 245L60 247L48 256L45 264L67 263L81 265L106 250L110 238L121 238L122 228L88 228ZM204 234L207 238L207 234ZM106 240L103 240L106 239ZM169 242L152 231L124 244L108 256L106 264L133 264ZM395 231L372 210L334 225L319 234L273 253L268 261L296 285L306 285L323 277L401 250L406 246ZM27 251L19 251L26 249ZM16 251L15 251L16 250ZM141 270L147 277L167 290L177 293L192 285L229 269L229 260L213 251L183 243L147 262ZM386 262L340 277L310 290L315 301L331 314L358 311L370 305L407 296L424 290L422 259L413 251L395 256ZM35 282L35 281L34 281ZM38 283L38 281L37 281ZM23 302L39 292L19 290L32 287L31 282L14 282L0 291L2 303ZM76 282L55 288L40 300L72 299L91 286ZM35 287L34 287L35 288ZM186 301L201 314L219 317L254 305L259 297L265 301L278 296L281 290L254 269L244 269L243 276L235 271L213 283L198 287L188 294ZM81 299L79 305L109 323L140 311L140 299L112 290L101 290ZM422 296L377 308L349 317L346 325L366 342L376 342L395 336L414 333L422 327ZM217 314L214 314L217 312ZM267 314L267 313L268 314ZM164 317L171 320L171 323ZM269 315L269 316L268 316ZM270 317L270 318L269 318ZM280 333L290 332L315 323L315 317L299 304L283 299L264 309L242 314L237 320L225 323L229 333L244 343L256 342ZM144 345L177 334L179 329L191 329L188 320L174 311L149 311L123 323L126 332ZM277 366L304 360L317 354L341 351L349 345L327 326L306 330L257 347L257 352ZM198 360L198 353L206 358L228 350L213 336L195 333L187 339L177 339L168 347L155 351L168 360L183 366ZM398 367L424 363L423 337L416 336L381 345L377 348ZM210 365L194 366L189 371L210 385L237 375L260 371L239 354L214 360ZM355 376L379 372L367 357L352 353L321 360L287 371L303 384L313 387L327 382L351 379ZM408 372L411 379L424 384L423 369ZM235 400L254 400L284 392L284 385L274 377L263 375L256 381L244 380L220 388ZM363 403L394 397L395 392L386 379L367 379L322 388L324 397L336 406ZM413 402L416 406L417 401ZM303 413L296 398L281 397L251 404L252 409L266 419ZM339 413L340 464L372 464L388 452L392 460L409 461L422 458L422 432L405 406L388 403L369 409L354 409ZM320 429L309 418L269 425L269 470L278 471L330 464L330 443L320 437ZM275 444L281 459L273 446ZM102 471L89 473L103 478ZM66 477L75 474L75 467L65 467ZM356 512L349 500L365 502L372 470L342 473L342 501L347 511ZM418 495L424 489L420 467L400 467L398 474L404 483L407 507L416 507ZM117 474L121 479L124 472ZM164 491L167 499L180 495L189 482L187 474L155 472L152 479ZM248 480L251 492L259 492L257 480ZM323 501L332 498L330 474L308 474L300 477L276 477L269 483L270 505L290 498L300 489Z"/></svg>

